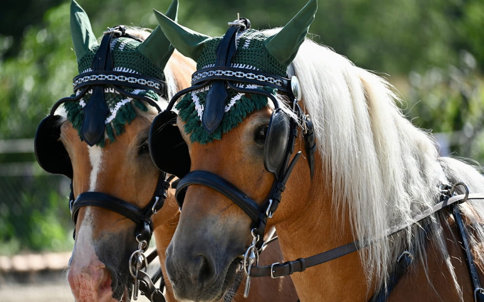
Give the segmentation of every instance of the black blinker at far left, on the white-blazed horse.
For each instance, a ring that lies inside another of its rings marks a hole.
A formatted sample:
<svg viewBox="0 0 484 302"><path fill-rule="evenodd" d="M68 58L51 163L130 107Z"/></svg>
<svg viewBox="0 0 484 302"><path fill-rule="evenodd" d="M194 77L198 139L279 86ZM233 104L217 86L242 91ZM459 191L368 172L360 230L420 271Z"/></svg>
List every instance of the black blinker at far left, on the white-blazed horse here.
<svg viewBox="0 0 484 302"><path fill-rule="evenodd" d="M62 119L49 115L40 122L34 138L35 157L43 170L72 179L71 159L60 141Z"/></svg>

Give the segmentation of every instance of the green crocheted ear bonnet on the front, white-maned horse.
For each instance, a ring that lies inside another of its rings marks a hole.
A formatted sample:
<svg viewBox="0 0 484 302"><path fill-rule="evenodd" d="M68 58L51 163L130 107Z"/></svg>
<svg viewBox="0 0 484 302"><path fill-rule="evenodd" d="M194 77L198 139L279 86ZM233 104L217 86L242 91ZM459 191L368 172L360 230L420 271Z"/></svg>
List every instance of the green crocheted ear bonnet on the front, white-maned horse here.
<svg viewBox="0 0 484 302"><path fill-rule="evenodd" d="M250 22L247 19L244 19L247 26L244 26L245 28L240 32L234 34L230 29L233 28L232 25L236 22L234 21L229 23L229 30L223 37L211 38L179 25L157 11L155 16L164 34L175 48L184 56L197 61L197 71L208 68L209 77L226 76L224 72L228 72L234 79L231 82L239 88L264 90L266 93L275 95L277 89L274 86L264 85L264 82L267 81L267 77L270 78L270 75L287 77L287 67L298 52L309 25L314 20L316 9L316 0L309 0L279 33L270 37L264 32L250 29ZM233 41L234 35L235 46L232 42L228 42L230 40L228 36L231 36L230 41ZM212 67L213 69L210 70ZM218 67L222 67L222 70L217 70ZM192 85L203 77L204 73L205 71L195 73ZM200 77L197 78L197 76ZM254 77L258 79L257 83L241 83L236 80ZM277 79L271 79L277 81ZM221 87L212 89L214 85L221 85L220 80L215 80L209 85L185 94L176 105L179 116L186 123L184 131L190 134L192 142L206 144L214 139L221 139L222 133L237 127L247 115L267 106L267 96L236 92L228 87L228 81L224 80L227 85L225 90ZM209 99L208 103L207 99ZM219 101L216 99L225 102L223 115L221 109L214 109L222 107L218 107ZM212 101L216 105L210 105ZM205 110L207 106L211 106L208 112Z"/></svg>

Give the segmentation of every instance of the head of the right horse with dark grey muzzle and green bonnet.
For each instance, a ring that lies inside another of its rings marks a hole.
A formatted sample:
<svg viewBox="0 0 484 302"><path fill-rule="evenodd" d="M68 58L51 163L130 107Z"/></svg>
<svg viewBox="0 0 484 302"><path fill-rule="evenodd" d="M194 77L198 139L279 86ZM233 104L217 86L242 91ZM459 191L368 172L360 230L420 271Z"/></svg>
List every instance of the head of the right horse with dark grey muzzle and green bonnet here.
<svg viewBox="0 0 484 302"><path fill-rule="evenodd" d="M234 283L247 246L261 248L265 225L291 219L294 204L285 204L274 221L262 217L278 207L290 170L299 185L288 183L284 194L308 191L314 141L297 134L298 125L310 121L299 108L300 87L296 78L288 78L288 66L316 7L309 1L277 34L250 29L250 21L240 19L229 23L222 38L195 33L157 13L175 48L197 60L192 87L175 95L167 108L183 95L176 105L184 130L179 140L188 144L191 172L177 188L182 214L166 262L180 300L220 299ZM294 155L299 149L292 153L292 148L306 140L302 154L310 160L304 163ZM156 162L157 151L151 151ZM273 193L279 197L269 201Z"/></svg>

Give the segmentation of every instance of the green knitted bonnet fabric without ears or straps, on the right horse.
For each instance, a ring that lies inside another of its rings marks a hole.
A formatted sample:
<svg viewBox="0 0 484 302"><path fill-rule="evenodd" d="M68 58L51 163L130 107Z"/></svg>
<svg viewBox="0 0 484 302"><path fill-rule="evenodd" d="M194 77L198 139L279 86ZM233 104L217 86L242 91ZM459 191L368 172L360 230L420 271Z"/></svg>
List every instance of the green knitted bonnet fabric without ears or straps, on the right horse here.
<svg viewBox="0 0 484 302"><path fill-rule="evenodd" d="M258 70L276 76L286 76L287 66L282 65L265 48L264 40L267 36L257 30L248 29L239 34L237 39L237 52L232 59L231 66L236 68ZM206 42L200 58L197 61L197 70L213 67L216 62L216 50L221 37L212 38ZM182 121L186 122L184 131L191 133L190 140L207 144L214 139L221 139L222 133L227 133L237 125L248 114L261 110L267 105L267 97L260 94L239 94L227 89L225 114L219 127L212 133L208 133L202 126L202 114L205 105L205 97L211 85L206 86L202 91L194 91L185 94L176 108ZM263 89L270 94L276 94L277 90L268 86L246 85L242 87L252 89Z"/></svg>

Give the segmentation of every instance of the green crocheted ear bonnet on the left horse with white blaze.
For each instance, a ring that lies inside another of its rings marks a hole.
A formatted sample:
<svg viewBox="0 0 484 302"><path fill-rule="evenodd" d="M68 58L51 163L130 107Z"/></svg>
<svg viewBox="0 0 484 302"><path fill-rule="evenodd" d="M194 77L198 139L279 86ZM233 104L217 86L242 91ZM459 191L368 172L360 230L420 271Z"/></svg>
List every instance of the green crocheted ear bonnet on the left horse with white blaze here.
<svg viewBox="0 0 484 302"><path fill-rule="evenodd" d="M174 0L167 15L176 19L177 10ZM102 147L106 138L114 142L124 132L137 110L148 111L146 101L156 104L166 94L163 69L174 48L160 27L141 41L116 26L98 43L86 12L74 0L70 24L80 74L74 78L72 96L80 98L63 106L81 140Z"/></svg>

